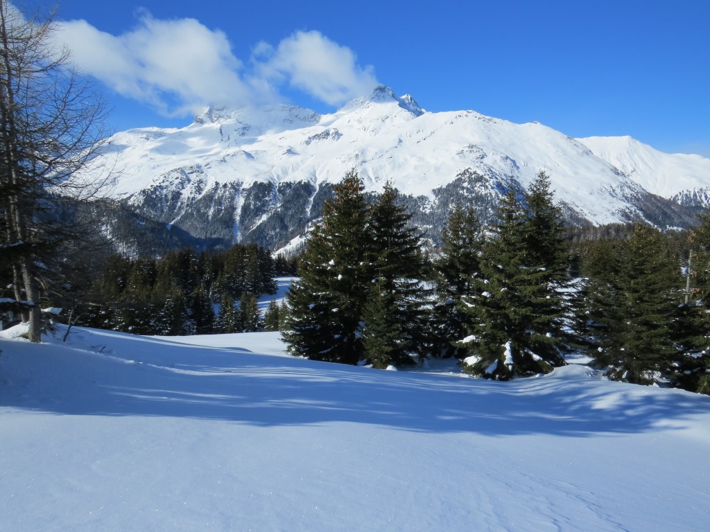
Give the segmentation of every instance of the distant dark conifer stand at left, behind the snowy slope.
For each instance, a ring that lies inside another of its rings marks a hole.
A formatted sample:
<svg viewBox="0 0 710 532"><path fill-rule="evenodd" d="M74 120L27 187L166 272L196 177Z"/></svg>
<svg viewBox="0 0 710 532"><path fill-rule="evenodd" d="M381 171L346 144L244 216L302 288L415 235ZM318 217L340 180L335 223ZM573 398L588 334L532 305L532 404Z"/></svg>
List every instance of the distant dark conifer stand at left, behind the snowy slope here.
<svg viewBox="0 0 710 532"><path fill-rule="evenodd" d="M98 275L69 279L72 291L57 304L70 307L72 324L137 334L278 331L283 306L258 309L262 294L275 294L277 275L293 273L293 261L256 244L224 252L192 248L163 257L109 255Z"/></svg>

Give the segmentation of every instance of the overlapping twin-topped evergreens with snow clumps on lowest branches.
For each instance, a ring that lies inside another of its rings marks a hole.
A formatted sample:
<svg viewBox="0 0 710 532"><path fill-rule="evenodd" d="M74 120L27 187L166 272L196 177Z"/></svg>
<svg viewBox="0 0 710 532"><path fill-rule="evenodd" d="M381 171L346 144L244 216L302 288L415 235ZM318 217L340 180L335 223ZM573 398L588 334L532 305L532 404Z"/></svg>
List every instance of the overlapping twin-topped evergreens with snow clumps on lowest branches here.
<svg viewBox="0 0 710 532"><path fill-rule="evenodd" d="M545 174L527 192L510 187L498 207L492 238L479 260L474 294L459 306L471 353L464 369L507 380L547 373L564 365L562 328L567 315L561 294L564 256L559 210Z"/></svg>

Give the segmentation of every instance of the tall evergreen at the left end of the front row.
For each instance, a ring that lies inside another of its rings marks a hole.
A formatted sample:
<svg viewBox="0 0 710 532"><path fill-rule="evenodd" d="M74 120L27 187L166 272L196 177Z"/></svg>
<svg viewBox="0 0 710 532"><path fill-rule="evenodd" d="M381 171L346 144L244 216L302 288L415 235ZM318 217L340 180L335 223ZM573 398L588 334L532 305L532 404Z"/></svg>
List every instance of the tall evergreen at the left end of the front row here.
<svg viewBox="0 0 710 532"><path fill-rule="evenodd" d="M308 236L300 279L288 293L283 338L293 355L346 364L363 358L361 321L372 278L368 223L364 186L351 170Z"/></svg>

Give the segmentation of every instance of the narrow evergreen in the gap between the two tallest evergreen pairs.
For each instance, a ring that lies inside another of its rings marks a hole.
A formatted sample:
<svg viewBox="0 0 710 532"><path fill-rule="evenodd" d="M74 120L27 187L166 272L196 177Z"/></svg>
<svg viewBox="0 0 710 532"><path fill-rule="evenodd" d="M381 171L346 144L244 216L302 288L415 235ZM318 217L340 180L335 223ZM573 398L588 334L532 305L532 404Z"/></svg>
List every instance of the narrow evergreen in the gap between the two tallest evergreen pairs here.
<svg viewBox="0 0 710 532"><path fill-rule="evenodd" d="M435 345L441 356L460 356L457 345L466 333L461 300L474 294L474 279L479 277L479 253L484 245L481 223L476 211L454 206L442 232L442 250L434 260L437 304L434 306Z"/></svg>

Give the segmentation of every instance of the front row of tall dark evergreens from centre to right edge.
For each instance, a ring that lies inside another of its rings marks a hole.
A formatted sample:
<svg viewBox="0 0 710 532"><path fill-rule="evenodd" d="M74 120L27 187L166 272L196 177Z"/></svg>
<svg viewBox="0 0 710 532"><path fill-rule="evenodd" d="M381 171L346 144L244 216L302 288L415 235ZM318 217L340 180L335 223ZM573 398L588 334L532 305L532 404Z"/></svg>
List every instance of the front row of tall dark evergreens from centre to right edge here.
<svg viewBox="0 0 710 532"><path fill-rule="evenodd" d="M426 257L398 198L387 184L368 203L354 171L334 187L288 294L290 353L374 367L456 356L507 380L582 352L611 379L709 391L710 216L686 244L643 223L572 238L541 172L507 187L490 225L458 206Z"/></svg>

